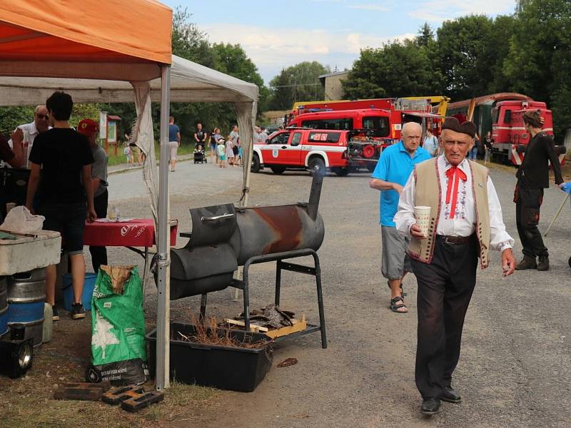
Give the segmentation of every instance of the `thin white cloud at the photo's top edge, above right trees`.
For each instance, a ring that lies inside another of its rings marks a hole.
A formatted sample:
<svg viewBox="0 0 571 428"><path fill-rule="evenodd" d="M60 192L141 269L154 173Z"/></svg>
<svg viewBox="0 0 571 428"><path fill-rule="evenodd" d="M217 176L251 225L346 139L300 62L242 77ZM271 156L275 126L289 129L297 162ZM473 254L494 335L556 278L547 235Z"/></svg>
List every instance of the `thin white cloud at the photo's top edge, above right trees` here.
<svg viewBox="0 0 571 428"><path fill-rule="evenodd" d="M514 7L515 0L428 0L421 1L409 16L423 21L442 22L469 14L509 14Z"/></svg>

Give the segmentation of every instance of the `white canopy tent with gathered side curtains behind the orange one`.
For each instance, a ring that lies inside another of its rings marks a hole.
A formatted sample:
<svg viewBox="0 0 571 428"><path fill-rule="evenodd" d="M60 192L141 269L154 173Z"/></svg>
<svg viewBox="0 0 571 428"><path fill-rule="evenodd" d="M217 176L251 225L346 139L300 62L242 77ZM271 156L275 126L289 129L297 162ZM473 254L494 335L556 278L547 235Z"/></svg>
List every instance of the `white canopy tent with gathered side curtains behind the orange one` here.
<svg viewBox="0 0 571 428"><path fill-rule="evenodd" d="M136 91L133 91L133 87ZM91 78L0 77L0 106L42 104L54 91L69 93L76 103L136 103L139 117L133 139L151 156L149 165L152 163L151 109L150 105L146 108L146 96L150 93L151 101L161 101L161 78L129 82ZM258 86L255 84L172 56L171 102L231 102L236 106L245 160L242 203L247 203L257 101ZM156 215L157 190L153 170L146 168L143 175L151 196L153 213Z"/></svg>

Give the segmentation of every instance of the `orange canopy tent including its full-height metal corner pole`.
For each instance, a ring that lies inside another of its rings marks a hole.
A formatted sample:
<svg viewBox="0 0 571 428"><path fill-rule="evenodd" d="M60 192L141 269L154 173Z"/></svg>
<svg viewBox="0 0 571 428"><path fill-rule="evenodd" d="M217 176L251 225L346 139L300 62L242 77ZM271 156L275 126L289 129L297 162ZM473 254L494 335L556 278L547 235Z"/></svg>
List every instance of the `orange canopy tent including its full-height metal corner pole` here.
<svg viewBox="0 0 571 428"><path fill-rule="evenodd" d="M142 86L137 91L137 84L160 77L161 158L168 158L171 26L171 9L155 0L1 1L0 76L134 82L136 93L145 93L137 98L138 111L150 111L151 99ZM168 387L169 320L168 169L166 163L160 165L158 389Z"/></svg>

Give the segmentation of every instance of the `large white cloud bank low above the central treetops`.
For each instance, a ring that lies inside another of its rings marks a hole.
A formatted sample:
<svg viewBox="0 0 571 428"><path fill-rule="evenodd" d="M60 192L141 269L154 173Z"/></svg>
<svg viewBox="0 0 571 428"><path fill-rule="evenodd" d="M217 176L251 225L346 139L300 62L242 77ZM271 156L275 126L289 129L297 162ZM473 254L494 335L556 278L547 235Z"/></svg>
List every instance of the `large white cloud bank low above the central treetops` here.
<svg viewBox="0 0 571 428"><path fill-rule="evenodd" d="M415 34L381 37L355 31L280 29L243 24L210 24L203 30L211 42L240 44L266 82L281 68L302 61L319 61L339 69L350 68L360 49L380 47L393 40L412 39Z"/></svg>

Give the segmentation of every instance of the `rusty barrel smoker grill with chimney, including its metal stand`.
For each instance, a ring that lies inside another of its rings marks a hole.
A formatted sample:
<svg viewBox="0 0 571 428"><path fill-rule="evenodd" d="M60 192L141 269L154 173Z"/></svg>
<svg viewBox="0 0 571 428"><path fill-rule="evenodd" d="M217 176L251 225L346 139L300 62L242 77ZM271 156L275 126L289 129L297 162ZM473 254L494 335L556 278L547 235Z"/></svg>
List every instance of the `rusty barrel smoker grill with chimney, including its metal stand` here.
<svg viewBox="0 0 571 428"><path fill-rule="evenodd" d="M280 303L281 271L313 275L317 285L319 325L299 334L321 332L327 347L321 272L316 251L325 227L318 213L323 175L313 174L308 203L236 208L233 204L191 209L192 233L186 247L171 250L171 300L202 295L201 317L208 292L236 287L243 290L245 328L250 329L248 269L255 263L276 261L276 305ZM313 267L284 260L312 256ZM243 280L233 278L243 266Z"/></svg>

